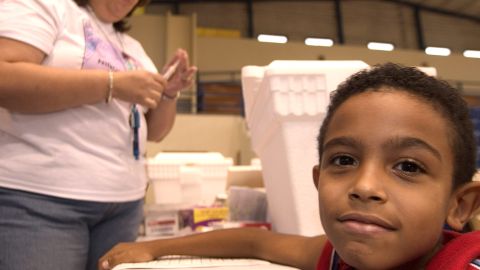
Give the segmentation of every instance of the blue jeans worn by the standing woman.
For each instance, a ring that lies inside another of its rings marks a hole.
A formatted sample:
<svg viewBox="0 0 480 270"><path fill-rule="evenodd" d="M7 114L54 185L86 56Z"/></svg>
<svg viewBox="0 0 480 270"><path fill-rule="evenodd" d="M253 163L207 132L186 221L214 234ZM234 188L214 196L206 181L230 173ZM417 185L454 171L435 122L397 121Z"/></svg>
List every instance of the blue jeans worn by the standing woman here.
<svg viewBox="0 0 480 270"><path fill-rule="evenodd" d="M95 270L119 242L134 241L143 200L99 203L0 188L0 269Z"/></svg>

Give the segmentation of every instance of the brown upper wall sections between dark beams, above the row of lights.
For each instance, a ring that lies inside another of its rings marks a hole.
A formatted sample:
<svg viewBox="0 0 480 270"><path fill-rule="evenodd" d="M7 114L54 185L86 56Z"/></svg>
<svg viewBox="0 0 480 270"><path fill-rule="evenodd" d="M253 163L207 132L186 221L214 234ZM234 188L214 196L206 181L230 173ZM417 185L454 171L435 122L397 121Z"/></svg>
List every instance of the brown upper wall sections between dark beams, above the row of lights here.
<svg viewBox="0 0 480 270"><path fill-rule="evenodd" d="M201 2L201 1L199 1ZM173 12L169 5L152 4L147 12ZM366 45L369 41L390 42L399 48L417 49L412 8L384 1L341 1L345 44ZM198 26L226 28L248 34L247 8L244 3L184 3L180 15L195 13ZM456 52L480 49L480 23L429 11L420 13L426 46L446 46ZM283 34L290 40L306 37L332 38L337 26L333 1L266 1L253 3L254 34Z"/></svg>

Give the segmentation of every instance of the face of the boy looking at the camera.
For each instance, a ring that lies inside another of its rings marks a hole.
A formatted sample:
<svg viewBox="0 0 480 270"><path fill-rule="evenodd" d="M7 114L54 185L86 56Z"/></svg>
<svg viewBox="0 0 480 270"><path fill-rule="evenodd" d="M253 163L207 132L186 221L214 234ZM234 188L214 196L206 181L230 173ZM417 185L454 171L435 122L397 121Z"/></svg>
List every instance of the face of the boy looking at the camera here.
<svg viewBox="0 0 480 270"><path fill-rule="evenodd" d="M416 269L440 246L450 203L448 125L405 92L366 92L334 114L317 177L320 216L357 269Z"/></svg>

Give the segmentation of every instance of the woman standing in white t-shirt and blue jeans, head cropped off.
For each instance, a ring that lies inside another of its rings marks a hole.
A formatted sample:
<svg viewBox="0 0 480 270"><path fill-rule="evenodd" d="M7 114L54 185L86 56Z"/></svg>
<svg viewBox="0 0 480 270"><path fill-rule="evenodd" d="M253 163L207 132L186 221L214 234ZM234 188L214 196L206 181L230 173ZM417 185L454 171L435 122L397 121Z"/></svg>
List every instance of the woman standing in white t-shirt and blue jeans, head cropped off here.
<svg viewBox="0 0 480 270"><path fill-rule="evenodd" d="M125 34L145 4L0 2L0 269L96 269L135 240L146 140L196 71L178 50L165 78Z"/></svg>

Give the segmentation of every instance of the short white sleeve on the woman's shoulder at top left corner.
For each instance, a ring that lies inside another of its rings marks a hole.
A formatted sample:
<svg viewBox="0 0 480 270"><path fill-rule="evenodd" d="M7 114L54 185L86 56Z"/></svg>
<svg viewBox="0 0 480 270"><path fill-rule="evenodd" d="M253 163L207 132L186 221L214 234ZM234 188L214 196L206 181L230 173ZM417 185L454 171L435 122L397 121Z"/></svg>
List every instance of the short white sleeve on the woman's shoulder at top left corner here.
<svg viewBox="0 0 480 270"><path fill-rule="evenodd" d="M51 52L70 0L0 0L0 36Z"/></svg>

